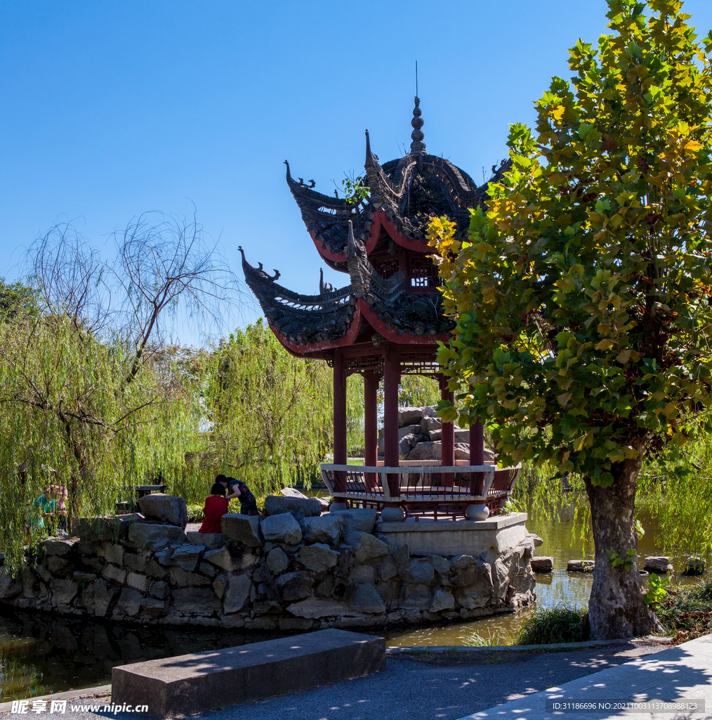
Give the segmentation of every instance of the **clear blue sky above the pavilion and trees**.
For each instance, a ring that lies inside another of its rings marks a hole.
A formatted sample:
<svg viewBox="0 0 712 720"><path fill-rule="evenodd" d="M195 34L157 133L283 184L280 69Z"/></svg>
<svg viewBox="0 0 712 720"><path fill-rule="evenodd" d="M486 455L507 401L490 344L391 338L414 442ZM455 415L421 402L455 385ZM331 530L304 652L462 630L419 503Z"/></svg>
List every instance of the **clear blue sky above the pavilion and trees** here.
<svg viewBox="0 0 712 720"><path fill-rule="evenodd" d="M712 27L709 0L685 10L700 34ZM285 159L332 194L362 168L365 128L381 161L400 156L418 60L427 150L480 180L605 12L603 0L3 0L0 276L57 221L111 253L135 215L194 203L236 271L242 245L316 292Z"/></svg>

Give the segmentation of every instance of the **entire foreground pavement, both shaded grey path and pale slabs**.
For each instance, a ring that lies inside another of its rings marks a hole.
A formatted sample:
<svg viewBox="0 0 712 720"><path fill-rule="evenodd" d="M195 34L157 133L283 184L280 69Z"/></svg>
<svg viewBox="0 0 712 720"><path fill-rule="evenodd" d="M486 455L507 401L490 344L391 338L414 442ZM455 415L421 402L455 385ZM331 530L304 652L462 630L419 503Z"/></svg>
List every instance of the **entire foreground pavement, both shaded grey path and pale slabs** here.
<svg viewBox="0 0 712 720"><path fill-rule="evenodd" d="M547 703L695 698L706 701L706 712L644 712L632 717L712 720L712 636L665 649L619 646L532 654L485 665L462 660L457 659L457 665L431 665L389 659L387 670L366 678L244 703L193 720L603 720L629 714L557 712ZM76 704L83 702L93 704ZM1 711L0 716L18 717ZM56 717L136 720L138 716L99 708L70 710L68 703L67 713Z"/></svg>

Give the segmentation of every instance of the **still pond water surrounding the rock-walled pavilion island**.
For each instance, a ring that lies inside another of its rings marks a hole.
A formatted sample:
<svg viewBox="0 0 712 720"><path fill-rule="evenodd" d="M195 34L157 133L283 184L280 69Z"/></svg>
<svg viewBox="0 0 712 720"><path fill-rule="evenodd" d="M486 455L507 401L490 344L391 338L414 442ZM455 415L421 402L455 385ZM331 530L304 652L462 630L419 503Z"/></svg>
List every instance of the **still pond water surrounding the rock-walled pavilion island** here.
<svg viewBox="0 0 712 720"><path fill-rule="evenodd" d="M665 554L656 545L657 528L649 513L643 509L639 518L646 531L639 541L640 556ZM537 606L587 603L592 577L566 572L567 560L580 559L583 549L583 540L572 542L572 511L557 521L531 518L526 524L544 541L537 554L554 557L554 572L537 575ZM593 557L590 538L585 547L584 557ZM672 584L697 581L680 577L684 557L673 555L672 563ZM521 617L533 609L466 623L396 629L386 631L385 637L388 645L395 646L457 645L468 643L477 634L498 644L506 642ZM127 662L234 647L275 636L278 634L134 628L37 613L0 617L0 701L105 685L111 682L111 668Z"/></svg>

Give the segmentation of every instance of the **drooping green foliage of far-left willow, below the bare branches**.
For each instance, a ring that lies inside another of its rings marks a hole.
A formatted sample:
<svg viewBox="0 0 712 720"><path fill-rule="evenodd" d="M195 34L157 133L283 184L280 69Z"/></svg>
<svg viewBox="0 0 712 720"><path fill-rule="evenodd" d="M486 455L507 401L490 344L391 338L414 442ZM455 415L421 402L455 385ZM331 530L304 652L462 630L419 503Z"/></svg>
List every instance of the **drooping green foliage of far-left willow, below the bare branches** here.
<svg viewBox="0 0 712 720"><path fill-rule="evenodd" d="M182 472L200 407L175 351L151 354L134 382L119 341L100 341L63 315L0 323L0 546L16 566L46 528L27 520L50 485L71 516L113 514L134 485ZM39 514L37 518L39 518ZM32 519L32 518L30 518Z"/></svg>

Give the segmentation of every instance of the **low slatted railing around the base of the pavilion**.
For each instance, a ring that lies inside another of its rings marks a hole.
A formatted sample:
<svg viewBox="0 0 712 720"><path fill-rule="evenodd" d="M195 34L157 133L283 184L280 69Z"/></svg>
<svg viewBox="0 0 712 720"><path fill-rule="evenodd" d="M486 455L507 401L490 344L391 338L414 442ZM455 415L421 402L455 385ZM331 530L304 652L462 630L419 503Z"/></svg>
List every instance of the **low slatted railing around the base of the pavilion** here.
<svg viewBox="0 0 712 720"><path fill-rule="evenodd" d="M400 506L406 515L464 515L467 505L485 504L496 514L521 472L493 465L371 467L322 464L321 477L334 498L380 510Z"/></svg>

